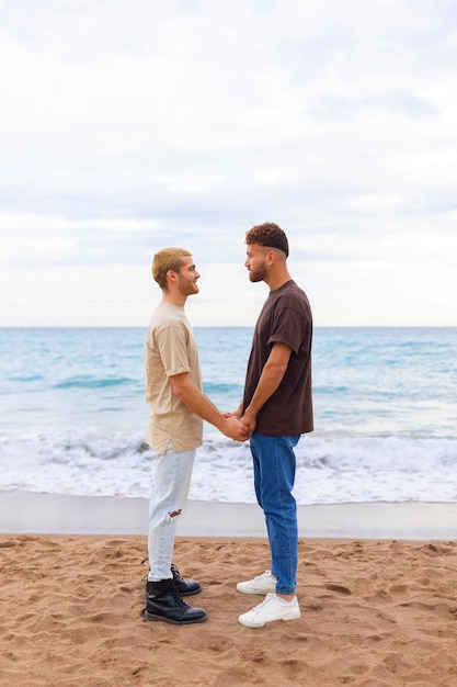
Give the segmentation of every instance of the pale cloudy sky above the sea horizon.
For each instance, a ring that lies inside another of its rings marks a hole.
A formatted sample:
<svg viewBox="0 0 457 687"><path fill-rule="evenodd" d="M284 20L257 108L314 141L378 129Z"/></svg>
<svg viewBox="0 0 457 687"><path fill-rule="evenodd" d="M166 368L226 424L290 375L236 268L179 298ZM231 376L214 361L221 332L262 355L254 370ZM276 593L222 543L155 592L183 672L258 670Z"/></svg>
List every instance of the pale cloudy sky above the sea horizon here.
<svg viewBox="0 0 457 687"><path fill-rule="evenodd" d="M0 326L252 326L277 223L316 326L457 326L457 0L0 0Z"/></svg>

